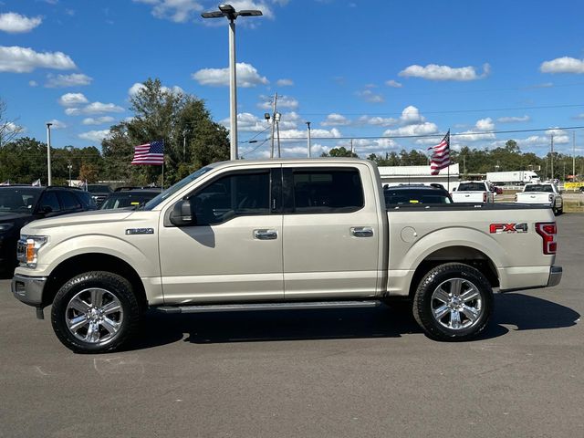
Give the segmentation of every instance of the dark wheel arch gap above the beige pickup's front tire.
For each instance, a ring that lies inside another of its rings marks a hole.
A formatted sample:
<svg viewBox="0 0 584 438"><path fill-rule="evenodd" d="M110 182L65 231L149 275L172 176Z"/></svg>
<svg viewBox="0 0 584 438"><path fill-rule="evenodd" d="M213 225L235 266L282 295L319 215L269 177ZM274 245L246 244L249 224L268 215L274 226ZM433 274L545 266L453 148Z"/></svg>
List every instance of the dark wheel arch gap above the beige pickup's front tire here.
<svg viewBox="0 0 584 438"><path fill-rule="evenodd" d="M136 270L119 257L103 253L73 255L61 261L47 278L43 293L43 307L53 302L59 288L69 279L88 271L107 271L123 276L130 281L141 309L148 307L146 290Z"/></svg>

